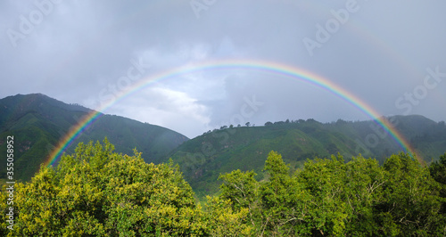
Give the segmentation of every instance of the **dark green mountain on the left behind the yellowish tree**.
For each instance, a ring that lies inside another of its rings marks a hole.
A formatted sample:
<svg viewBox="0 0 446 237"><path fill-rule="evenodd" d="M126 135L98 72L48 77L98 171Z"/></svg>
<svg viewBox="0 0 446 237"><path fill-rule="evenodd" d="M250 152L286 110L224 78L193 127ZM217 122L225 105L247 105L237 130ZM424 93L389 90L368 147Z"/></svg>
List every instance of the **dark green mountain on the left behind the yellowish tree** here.
<svg viewBox="0 0 446 237"><path fill-rule="evenodd" d="M6 136L14 136L14 179L29 180L54 146L92 110L78 104L67 104L44 94L17 94L0 100L0 154L6 154ZM141 123L119 116L101 115L71 143L103 141L107 136L117 152L143 152L146 162L160 162L179 144L188 140L165 127ZM0 178L6 167L0 162Z"/></svg>

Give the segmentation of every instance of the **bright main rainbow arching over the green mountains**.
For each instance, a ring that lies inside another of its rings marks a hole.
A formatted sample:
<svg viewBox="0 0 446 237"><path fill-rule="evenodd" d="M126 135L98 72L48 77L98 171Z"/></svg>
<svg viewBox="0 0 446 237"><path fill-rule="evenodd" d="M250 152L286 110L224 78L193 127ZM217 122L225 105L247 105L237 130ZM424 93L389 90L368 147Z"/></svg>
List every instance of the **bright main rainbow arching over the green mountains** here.
<svg viewBox="0 0 446 237"><path fill-rule="evenodd" d="M65 135L62 140L56 145L54 151L52 151L49 157L45 160L45 166L52 166L54 162L62 156L62 153L66 150L68 146L80 135L89 125L95 122L103 113L103 110L110 108L114 103L128 97L130 94L134 94L137 91L145 88L146 86L151 86L153 83L158 81L177 78L181 75L187 73L194 73L204 70L223 70L223 69L251 69L256 71L265 71L268 73L273 73L287 78L293 78L306 82L312 86L318 86L332 94L337 95L343 101L350 103L352 106L358 110L364 112L371 119L376 120L376 123L384 128L384 130L392 136L393 140L399 144L405 152L410 152L415 154L414 149L410 146L409 142L406 141L403 135L401 135L392 125L381 117L381 115L376 112L371 106L366 102L363 102L359 97L352 94L351 92L343 89L341 86L337 86L332 81L322 78L317 74L310 71L292 67L290 65L272 62L272 61L252 61L252 60L220 60L220 61L204 61L195 65L189 65L186 67L180 67L176 69L171 69L158 73L153 76L149 76L144 79L136 81L132 86L128 86L125 91L121 91L119 94L115 94L108 102L104 102L100 108L90 112L81 119L75 127L72 127L67 135Z"/></svg>

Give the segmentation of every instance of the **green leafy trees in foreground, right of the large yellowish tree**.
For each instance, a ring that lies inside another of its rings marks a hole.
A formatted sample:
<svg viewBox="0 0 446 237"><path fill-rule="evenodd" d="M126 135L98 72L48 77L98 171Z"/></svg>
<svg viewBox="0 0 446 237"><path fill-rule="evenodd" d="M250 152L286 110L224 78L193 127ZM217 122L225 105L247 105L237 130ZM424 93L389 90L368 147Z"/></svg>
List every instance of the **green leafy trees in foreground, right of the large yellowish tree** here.
<svg viewBox="0 0 446 237"><path fill-rule="evenodd" d="M439 186L409 154L392 155L383 166L361 156L346 163L338 154L309 160L290 175L271 151L265 170L268 180L261 182L252 171L221 176L219 197L235 200L234 210L249 209L254 235L446 234Z"/></svg>

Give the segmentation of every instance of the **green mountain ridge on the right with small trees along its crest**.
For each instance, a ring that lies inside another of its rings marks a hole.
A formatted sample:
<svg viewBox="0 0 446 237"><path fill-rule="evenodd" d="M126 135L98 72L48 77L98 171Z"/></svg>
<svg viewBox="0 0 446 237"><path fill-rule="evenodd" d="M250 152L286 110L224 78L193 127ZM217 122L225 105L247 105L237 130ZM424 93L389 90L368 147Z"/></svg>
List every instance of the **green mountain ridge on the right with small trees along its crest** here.
<svg viewBox="0 0 446 237"><path fill-rule="evenodd" d="M426 162L446 151L446 126L422 116L396 116L396 129L404 135ZM376 139L377 138L377 139ZM178 163L185 179L199 195L217 192L219 174L235 169L262 168L269 151L278 151L292 169L306 159L326 158L341 153L344 159L358 153L383 161L402 151L391 135L375 121L338 120L322 124L314 119L266 123L265 127L222 127L181 144L169 155Z"/></svg>

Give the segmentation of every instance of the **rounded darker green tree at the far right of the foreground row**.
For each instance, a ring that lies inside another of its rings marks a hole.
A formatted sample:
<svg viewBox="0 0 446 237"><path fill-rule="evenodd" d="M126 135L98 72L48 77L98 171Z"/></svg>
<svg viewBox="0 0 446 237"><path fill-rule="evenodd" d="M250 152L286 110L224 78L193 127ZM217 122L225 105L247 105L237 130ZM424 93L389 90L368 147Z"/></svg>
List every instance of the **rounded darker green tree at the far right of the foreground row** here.
<svg viewBox="0 0 446 237"><path fill-rule="evenodd" d="M385 160L383 168L384 201L376 206L381 232L385 235L444 235L442 203L428 168L406 153L392 155Z"/></svg>

